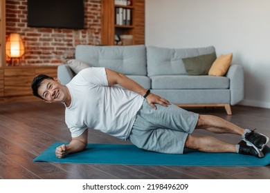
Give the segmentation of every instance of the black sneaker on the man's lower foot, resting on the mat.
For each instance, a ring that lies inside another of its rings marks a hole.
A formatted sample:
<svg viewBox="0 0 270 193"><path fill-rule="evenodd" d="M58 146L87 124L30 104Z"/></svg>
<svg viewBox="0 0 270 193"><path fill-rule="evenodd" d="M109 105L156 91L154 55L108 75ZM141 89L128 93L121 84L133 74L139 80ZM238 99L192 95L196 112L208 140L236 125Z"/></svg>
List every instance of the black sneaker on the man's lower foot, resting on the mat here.
<svg viewBox="0 0 270 193"><path fill-rule="evenodd" d="M238 153L256 156L258 158L264 157L264 154L260 150L258 150L258 148L255 148L253 144L244 140L240 141L238 144L240 145Z"/></svg>

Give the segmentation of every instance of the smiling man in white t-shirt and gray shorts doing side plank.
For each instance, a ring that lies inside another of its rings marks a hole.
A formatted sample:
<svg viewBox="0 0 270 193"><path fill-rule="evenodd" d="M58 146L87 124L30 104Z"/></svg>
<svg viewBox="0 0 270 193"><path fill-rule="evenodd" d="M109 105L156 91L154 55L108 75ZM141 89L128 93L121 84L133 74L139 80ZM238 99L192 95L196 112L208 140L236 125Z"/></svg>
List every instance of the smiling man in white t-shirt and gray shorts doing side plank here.
<svg viewBox="0 0 270 193"><path fill-rule="evenodd" d="M107 68L86 68L66 85L40 74L33 80L32 89L45 102L66 106L66 125L72 140L56 148L58 158L84 150L88 128L129 140L144 150L170 154L183 154L183 148L191 148L262 158L262 150L269 141L263 134L244 130L217 116L183 110ZM192 134L195 129L238 134L242 141L234 145L212 136L195 136Z"/></svg>

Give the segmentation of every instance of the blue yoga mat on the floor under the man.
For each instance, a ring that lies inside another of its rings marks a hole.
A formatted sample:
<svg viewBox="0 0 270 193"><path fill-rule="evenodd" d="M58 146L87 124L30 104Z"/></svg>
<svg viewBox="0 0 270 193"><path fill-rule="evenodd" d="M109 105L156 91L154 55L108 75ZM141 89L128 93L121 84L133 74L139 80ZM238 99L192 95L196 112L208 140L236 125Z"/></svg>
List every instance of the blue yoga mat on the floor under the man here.
<svg viewBox="0 0 270 193"><path fill-rule="evenodd" d="M194 165L194 166L263 166L270 164L270 148L264 148L264 158L234 153L204 153L185 149L184 154L160 154L136 148L134 145L88 144L87 149L66 154L64 159L55 157L54 143L34 161L53 163L88 163L121 165Z"/></svg>

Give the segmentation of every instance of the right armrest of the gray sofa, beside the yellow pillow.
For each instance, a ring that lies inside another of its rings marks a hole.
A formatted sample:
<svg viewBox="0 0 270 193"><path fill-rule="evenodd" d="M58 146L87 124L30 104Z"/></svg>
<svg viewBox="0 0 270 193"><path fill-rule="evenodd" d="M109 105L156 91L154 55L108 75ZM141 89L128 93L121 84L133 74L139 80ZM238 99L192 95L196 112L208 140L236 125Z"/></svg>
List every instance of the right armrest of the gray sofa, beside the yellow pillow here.
<svg viewBox="0 0 270 193"><path fill-rule="evenodd" d="M244 67L231 65L226 77L230 79L231 105L235 105L244 99Z"/></svg>

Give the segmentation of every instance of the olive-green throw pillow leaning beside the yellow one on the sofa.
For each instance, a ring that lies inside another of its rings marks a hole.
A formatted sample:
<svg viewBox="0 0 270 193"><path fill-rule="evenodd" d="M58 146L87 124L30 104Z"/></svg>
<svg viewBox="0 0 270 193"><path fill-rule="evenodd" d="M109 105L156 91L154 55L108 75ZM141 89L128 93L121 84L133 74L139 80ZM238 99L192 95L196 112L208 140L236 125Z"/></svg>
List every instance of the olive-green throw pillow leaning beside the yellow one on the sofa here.
<svg viewBox="0 0 270 193"><path fill-rule="evenodd" d="M185 58L182 61L188 75L207 75L215 59L217 59L217 56L214 52L212 54Z"/></svg>

